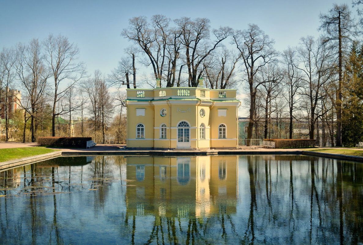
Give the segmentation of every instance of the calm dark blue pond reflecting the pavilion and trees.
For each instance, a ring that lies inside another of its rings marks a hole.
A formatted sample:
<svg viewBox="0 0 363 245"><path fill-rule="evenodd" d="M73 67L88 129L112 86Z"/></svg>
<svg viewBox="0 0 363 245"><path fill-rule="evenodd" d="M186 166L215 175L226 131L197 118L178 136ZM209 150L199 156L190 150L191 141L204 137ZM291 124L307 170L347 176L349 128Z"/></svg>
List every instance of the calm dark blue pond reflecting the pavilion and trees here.
<svg viewBox="0 0 363 245"><path fill-rule="evenodd" d="M0 172L0 244L362 244L363 164L77 156Z"/></svg>

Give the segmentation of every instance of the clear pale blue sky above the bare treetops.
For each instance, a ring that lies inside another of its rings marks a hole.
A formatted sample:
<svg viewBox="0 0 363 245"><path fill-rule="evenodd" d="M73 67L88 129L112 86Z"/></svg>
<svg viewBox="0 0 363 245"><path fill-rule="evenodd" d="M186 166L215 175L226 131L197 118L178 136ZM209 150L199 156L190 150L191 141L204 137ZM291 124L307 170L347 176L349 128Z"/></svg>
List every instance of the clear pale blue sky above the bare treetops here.
<svg viewBox="0 0 363 245"><path fill-rule="evenodd" d="M318 36L319 13L326 13L331 0L305 1L12 1L0 0L0 48L17 42L40 40L49 33L61 33L81 50L80 60L89 73L107 74L117 66L123 49L131 43L120 36L134 16L162 14L171 19L206 17L211 26L245 29L248 23L260 26L282 51L296 46L301 36ZM355 9L353 9L355 13ZM151 72L151 69L150 69Z"/></svg>

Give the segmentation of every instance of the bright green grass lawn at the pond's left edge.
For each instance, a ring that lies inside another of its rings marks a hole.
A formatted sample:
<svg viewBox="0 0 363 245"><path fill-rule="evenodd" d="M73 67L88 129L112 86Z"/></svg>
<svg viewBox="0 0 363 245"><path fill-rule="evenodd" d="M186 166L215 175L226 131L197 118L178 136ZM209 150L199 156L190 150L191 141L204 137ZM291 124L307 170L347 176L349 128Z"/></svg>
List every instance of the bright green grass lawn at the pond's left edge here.
<svg viewBox="0 0 363 245"><path fill-rule="evenodd" d="M46 154L54 151L58 150L48 149L45 147L20 147L0 149L0 163L14 159L27 158L29 156Z"/></svg>

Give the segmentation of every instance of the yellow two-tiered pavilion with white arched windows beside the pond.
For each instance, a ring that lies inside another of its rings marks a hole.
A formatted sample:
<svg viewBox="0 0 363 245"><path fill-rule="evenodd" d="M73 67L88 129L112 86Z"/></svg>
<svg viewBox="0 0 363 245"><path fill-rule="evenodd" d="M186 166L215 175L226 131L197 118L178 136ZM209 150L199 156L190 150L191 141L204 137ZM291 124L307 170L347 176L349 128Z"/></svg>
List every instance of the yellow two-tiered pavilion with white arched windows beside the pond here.
<svg viewBox="0 0 363 245"><path fill-rule="evenodd" d="M231 149L238 146L235 89L127 89L128 149Z"/></svg>

